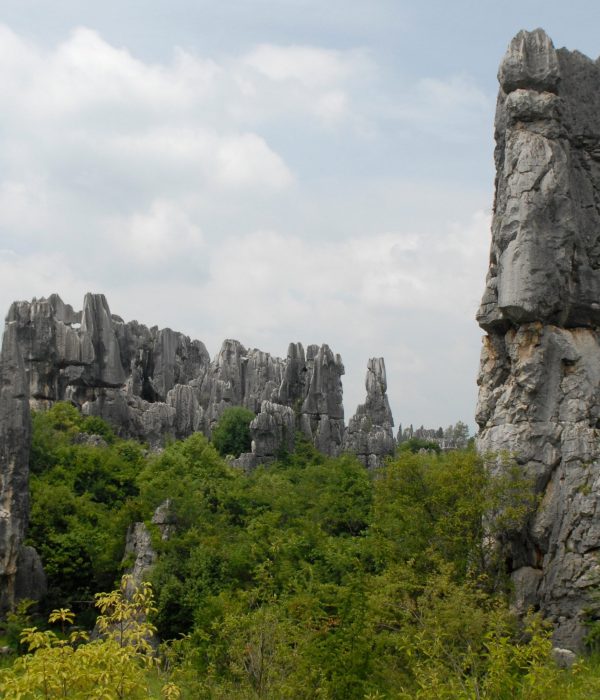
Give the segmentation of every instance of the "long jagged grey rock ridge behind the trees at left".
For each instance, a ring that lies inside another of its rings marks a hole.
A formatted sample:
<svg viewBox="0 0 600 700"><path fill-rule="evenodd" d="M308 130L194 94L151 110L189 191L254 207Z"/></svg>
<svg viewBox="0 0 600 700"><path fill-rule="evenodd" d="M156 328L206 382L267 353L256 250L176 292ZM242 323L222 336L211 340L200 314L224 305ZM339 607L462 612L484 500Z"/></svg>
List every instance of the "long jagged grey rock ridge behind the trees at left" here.
<svg viewBox="0 0 600 700"><path fill-rule="evenodd" d="M159 447L168 436L210 435L228 406L245 406L257 416L245 466L293 449L296 430L325 454L342 450L344 366L327 345L309 345L305 353L301 343L291 343L282 359L226 340L211 361L198 340L170 328L125 323L111 314L102 294L86 294L82 311L56 294L15 302L7 323L23 358L24 395L34 408L71 401L121 436ZM385 383L383 365L377 371L379 386ZM368 399L365 410L378 411L376 404ZM389 412L387 399L385 405Z"/></svg>

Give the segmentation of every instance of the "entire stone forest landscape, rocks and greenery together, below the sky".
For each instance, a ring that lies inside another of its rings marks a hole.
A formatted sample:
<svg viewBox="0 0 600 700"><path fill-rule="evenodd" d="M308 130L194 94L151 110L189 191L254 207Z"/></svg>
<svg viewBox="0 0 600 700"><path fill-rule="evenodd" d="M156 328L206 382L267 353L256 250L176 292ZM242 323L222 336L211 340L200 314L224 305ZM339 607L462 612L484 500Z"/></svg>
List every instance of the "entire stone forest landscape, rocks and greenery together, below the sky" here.
<svg viewBox="0 0 600 700"><path fill-rule="evenodd" d="M475 445L395 437L381 357L346 424L326 344L12 304L3 697L600 696L600 64L498 81Z"/></svg>

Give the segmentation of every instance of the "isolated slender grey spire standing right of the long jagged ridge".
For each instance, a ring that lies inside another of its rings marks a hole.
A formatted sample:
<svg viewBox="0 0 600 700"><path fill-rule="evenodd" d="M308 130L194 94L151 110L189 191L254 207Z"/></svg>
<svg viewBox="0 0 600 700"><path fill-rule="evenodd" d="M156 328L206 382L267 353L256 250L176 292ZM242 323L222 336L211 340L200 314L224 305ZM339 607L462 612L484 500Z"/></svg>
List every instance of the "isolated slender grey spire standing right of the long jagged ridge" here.
<svg viewBox="0 0 600 700"><path fill-rule="evenodd" d="M393 455L396 448L383 357L369 360L365 386L367 398L348 423L344 449L356 454L369 469L375 469L382 466L385 458Z"/></svg>

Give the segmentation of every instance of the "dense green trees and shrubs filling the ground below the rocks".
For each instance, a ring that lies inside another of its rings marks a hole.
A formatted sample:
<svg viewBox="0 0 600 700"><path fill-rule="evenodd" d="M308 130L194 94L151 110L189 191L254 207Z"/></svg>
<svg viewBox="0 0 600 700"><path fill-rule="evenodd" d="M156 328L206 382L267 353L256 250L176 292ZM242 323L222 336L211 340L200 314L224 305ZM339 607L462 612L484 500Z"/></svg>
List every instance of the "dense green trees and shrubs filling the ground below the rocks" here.
<svg viewBox="0 0 600 700"><path fill-rule="evenodd" d="M600 694L593 657L558 669L543 621L532 614L520 624L507 604L498 535L522 527L535 507L508 460L492 478L472 450L404 450L369 473L298 439L293 454L244 474L201 434L150 454L57 404L34 416L31 468L29 543L49 594L37 618L22 609L6 625L13 641L25 627L20 651L30 649L0 676L7 693L20 688L15 698ZM173 532L163 540L151 517L166 498ZM111 663L123 645L110 634L70 643L65 610L93 627L94 596L118 585L130 563L126 530L138 520L158 552L154 602L144 606L162 640L160 672L144 644L129 648L127 668L140 672L120 694L102 679L114 680L106 669L120 668ZM31 627L53 608L60 629L54 641L38 630L44 643ZM90 661L87 680L69 689L76 674L64 671L66 657L92 644L99 665ZM40 654L46 671L65 677L55 690L36 675Z"/></svg>

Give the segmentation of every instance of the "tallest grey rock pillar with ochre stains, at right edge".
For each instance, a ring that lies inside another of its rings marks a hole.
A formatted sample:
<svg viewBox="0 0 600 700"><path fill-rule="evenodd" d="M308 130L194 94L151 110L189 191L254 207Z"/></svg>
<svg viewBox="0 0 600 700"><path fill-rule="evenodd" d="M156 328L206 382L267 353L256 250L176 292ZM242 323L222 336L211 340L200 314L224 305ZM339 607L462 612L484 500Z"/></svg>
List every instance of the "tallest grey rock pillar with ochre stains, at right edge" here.
<svg viewBox="0 0 600 700"><path fill-rule="evenodd" d="M516 600L577 648L600 583L600 67L538 29L498 78L478 444L514 451L541 496L508 543Z"/></svg>

